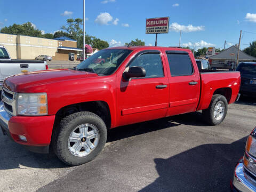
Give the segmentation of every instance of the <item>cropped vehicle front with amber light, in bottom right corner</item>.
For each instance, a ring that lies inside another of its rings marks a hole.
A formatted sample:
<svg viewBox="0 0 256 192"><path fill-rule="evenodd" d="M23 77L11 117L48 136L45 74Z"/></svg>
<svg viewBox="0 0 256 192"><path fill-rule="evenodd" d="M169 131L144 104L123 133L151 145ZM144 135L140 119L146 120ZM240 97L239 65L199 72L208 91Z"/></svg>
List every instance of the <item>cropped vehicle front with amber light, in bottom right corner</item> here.
<svg viewBox="0 0 256 192"><path fill-rule="evenodd" d="M236 165L231 191L256 191L256 127L247 139L244 157Z"/></svg>

